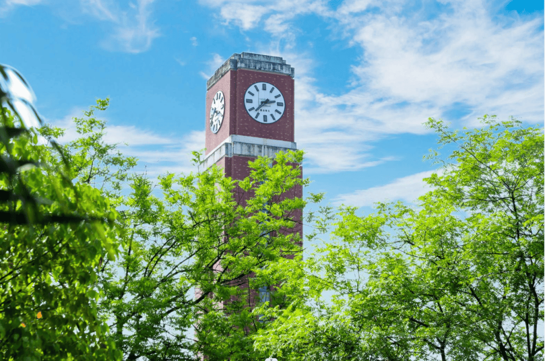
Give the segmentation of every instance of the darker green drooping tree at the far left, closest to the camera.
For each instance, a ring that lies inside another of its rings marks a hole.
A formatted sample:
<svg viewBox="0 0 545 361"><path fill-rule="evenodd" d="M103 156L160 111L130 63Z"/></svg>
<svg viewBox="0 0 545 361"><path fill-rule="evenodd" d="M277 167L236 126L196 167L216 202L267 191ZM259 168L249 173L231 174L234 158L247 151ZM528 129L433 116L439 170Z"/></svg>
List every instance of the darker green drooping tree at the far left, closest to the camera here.
<svg viewBox="0 0 545 361"><path fill-rule="evenodd" d="M14 69L0 66L0 73L2 84L13 76L26 84ZM15 115L0 109L0 355L120 359L98 320L93 287L101 253L117 254L117 213L97 190L72 184L62 166L47 163L38 133L25 127L9 89L1 90L0 100Z"/></svg>

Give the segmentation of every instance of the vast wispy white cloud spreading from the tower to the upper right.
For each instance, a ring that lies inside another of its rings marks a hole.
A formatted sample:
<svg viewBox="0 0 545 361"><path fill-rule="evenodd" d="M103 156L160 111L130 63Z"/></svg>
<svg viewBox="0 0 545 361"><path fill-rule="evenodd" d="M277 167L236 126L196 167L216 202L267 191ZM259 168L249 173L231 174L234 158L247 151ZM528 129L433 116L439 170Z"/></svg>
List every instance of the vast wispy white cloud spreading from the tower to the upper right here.
<svg viewBox="0 0 545 361"><path fill-rule="evenodd" d="M428 117L457 127L476 126L483 114L543 121L540 14L522 20L475 0L444 1L433 12L399 0L345 0L335 11L326 1L247 0L246 8L241 0L200 2L243 31L264 23L272 40L255 51L295 67L295 134L307 151L307 174L358 171L393 160L374 158L370 144L390 134L428 133L422 126ZM294 47L307 14L322 17L362 54L353 59L343 94L316 86L319 59ZM460 106L464 115L451 116L449 110Z"/></svg>

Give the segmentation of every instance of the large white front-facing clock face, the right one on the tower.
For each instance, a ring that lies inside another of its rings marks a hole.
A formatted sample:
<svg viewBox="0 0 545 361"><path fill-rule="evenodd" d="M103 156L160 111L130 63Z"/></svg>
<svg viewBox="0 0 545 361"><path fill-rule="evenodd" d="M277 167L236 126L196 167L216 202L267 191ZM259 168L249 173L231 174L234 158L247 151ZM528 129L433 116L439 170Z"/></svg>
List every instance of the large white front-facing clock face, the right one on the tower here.
<svg viewBox="0 0 545 361"><path fill-rule="evenodd" d="M263 124L277 122L286 109L280 90L265 82L250 85L244 94L244 105L248 114Z"/></svg>

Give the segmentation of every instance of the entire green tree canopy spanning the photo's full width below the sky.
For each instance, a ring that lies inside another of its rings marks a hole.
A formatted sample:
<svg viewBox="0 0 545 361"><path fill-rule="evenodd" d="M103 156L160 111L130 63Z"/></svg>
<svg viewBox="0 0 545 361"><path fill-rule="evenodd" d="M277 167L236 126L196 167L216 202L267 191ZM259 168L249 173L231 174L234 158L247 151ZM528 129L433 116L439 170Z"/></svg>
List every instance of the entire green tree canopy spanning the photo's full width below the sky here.
<svg viewBox="0 0 545 361"><path fill-rule="evenodd" d="M542 128L485 116L452 132L429 119L439 149L457 147L425 157L441 164L432 190L365 216L308 211L307 241L334 241L303 260L294 212L324 194L283 196L310 183L293 166L304 152L258 157L241 181L213 166L154 184L104 141L95 112L109 99L58 145L63 129L25 127L2 91L3 359L543 357Z"/></svg>

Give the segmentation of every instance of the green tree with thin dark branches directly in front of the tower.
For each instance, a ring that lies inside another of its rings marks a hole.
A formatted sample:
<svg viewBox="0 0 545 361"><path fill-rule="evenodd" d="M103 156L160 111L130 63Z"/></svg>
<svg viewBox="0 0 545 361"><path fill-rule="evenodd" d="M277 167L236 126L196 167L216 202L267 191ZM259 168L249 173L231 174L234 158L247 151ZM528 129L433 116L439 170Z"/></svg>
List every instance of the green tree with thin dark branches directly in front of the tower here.
<svg viewBox="0 0 545 361"><path fill-rule="evenodd" d="M275 285L278 281L268 267L293 267L296 262L282 257L300 253L294 240L271 234L293 227L293 210L306 203L280 201L283 193L308 183L296 178L298 172L288 164L300 162L302 152L279 153L274 165L259 158L251 163L251 176L240 182L216 167L187 176L163 175L158 179L164 196L160 199L146 175L127 175L136 160L102 140L106 122L94 112L107 107L108 99L98 99L96 107L76 118L81 138L63 151L72 167L70 177L100 186L117 205L116 224L124 229L120 259L106 260L98 270L97 284L104 291L99 316L112 330L110 340L126 360L189 360L195 353L209 360L255 359L247 335L268 323L258 322L258 314L249 312L247 289L238 284L245 282L250 289ZM59 136L62 129L46 126L42 134ZM108 158L112 154L117 155ZM200 163L201 153L193 155L195 164ZM113 181L119 182L117 188ZM235 184L240 192L253 195L244 207L233 199ZM129 187L129 195L120 194L123 186ZM312 201L319 197L313 195ZM261 212L263 204L268 204L269 215ZM249 274L254 276L246 277ZM201 290L197 297L194 288ZM286 299L278 290L268 304L274 307ZM185 336L193 325L198 325L196 340Z"/></svg>

